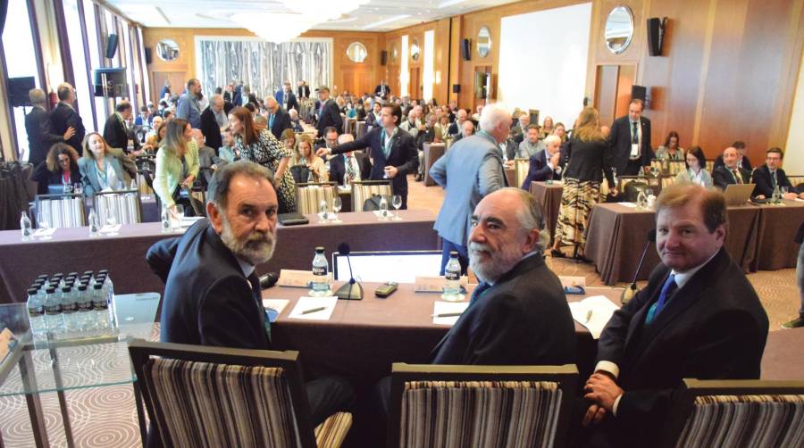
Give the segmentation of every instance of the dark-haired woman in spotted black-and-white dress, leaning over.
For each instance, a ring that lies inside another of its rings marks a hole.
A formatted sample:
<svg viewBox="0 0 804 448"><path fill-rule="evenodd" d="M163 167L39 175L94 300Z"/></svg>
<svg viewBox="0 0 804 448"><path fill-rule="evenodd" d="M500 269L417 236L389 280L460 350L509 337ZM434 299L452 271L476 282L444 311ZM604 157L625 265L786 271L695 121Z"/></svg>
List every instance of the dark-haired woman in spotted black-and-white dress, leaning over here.
<svg viewBox="0 0 804 448"><path fill-rule="evenodd" d="M297 212L296 183L288 170L290 151L271 131L256 125L245 107L235 107L229 112L229 126L240 157L273 171L279 212Z"/></svg>

